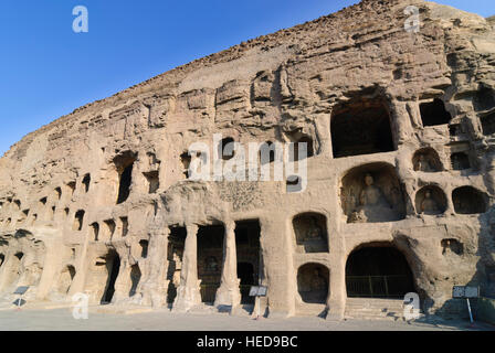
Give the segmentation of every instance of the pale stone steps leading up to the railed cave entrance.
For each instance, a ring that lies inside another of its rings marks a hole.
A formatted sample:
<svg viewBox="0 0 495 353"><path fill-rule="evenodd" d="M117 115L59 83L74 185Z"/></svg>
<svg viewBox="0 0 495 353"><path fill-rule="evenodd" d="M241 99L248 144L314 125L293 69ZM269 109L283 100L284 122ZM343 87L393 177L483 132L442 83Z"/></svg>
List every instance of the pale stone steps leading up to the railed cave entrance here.
<svg viewBox="0 0 495 353"><path fill-rule="evenodd" d="M403 310L401 299L348 298L344 317L358 320L404 321Z"/></svg>

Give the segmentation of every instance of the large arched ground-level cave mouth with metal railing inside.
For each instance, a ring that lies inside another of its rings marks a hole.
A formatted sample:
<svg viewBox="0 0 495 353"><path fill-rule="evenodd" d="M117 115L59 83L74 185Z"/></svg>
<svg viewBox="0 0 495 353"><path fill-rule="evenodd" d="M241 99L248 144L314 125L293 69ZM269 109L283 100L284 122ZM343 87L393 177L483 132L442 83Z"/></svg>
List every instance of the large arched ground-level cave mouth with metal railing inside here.
<svg viewBox="0 0 495 353"><path fill-rule="evenodd" d="M346 264L348 298L402 299L414 292L414 279L404 255L389 243L359 246Z"/></svg>

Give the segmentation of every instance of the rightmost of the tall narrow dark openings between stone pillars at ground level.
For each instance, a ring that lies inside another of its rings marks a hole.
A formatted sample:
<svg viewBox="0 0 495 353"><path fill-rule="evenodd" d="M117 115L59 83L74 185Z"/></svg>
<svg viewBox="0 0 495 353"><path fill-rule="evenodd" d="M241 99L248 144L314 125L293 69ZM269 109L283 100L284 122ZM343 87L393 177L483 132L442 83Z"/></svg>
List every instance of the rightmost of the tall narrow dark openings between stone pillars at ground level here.
<svg viewBox="0 0 495 353"><path fill-rule="evenodd" d="M242 304L254 304L254 297L250 297L250 289L251 286L260 285L262 277L260 236L259 220L235 222L238 278L240 279Z"/></svg>

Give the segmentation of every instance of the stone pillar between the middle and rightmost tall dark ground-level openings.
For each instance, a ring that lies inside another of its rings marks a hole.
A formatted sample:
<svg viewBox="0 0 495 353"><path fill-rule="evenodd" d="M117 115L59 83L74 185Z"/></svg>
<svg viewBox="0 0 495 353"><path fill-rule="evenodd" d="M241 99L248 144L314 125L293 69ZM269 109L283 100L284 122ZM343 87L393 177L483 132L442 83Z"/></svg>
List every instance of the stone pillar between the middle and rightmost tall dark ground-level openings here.
<svg viewBox="0 0 495 353"><path fill-rule="evenodd" d="M235 249L235 222L225 223L223 236L223 267L220 288L214 297L214 306L231 306L234 309L241 303L241 290L238 278L238 254Z"/></svg>

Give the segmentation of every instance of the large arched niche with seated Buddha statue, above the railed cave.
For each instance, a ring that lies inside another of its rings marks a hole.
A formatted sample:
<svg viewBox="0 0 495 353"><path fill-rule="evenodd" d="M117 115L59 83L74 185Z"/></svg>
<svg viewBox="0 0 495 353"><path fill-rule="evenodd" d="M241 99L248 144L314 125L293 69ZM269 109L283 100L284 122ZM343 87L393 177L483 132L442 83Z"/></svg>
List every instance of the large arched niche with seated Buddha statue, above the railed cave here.
<svg viewBox="0 0 495 353"><path fill-rule="evenodd" d="M340 202L347 223L394 222L406 217L403 188L387 163L357 167L344 176Z"/></svg>

